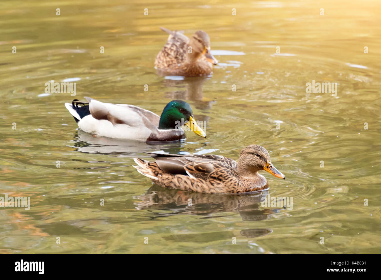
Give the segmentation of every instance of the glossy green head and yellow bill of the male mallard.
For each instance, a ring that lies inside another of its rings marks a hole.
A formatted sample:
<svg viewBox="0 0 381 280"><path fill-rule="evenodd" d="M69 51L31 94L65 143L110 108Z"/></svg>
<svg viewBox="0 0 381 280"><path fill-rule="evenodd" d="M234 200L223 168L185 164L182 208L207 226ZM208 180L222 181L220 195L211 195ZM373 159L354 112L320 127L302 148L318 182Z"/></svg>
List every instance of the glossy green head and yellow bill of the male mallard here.
<svg viewBox="0 0 381 280"><path fill-rule="evenodd" d="M164 107L160 116L159 129L178 129L188 126L195 134L207 138L207 134L197 125L191 105L182 100L172 100Z"/></svg>

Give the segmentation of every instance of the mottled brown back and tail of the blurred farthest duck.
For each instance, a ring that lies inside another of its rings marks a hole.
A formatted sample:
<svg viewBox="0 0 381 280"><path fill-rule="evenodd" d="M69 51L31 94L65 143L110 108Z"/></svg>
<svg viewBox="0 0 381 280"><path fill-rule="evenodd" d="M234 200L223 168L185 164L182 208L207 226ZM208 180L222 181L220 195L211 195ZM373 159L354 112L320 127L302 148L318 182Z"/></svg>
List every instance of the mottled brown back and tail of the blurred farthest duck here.
<svg viewBox="0 0 381 280"><path fill-rule="evenodd" d="M168 40L163 49L157 54L155 67L157 69L175 69L185 61L189 38L183 31L170 31L160 27L169 34Z"/></svg>

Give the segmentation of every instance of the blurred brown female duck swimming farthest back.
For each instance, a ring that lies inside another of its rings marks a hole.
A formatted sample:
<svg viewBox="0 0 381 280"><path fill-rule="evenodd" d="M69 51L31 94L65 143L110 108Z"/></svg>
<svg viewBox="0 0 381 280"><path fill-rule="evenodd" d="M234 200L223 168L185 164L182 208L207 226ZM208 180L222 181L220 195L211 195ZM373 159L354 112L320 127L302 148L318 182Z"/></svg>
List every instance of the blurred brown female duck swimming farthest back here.
<svg viewBox="0 0 381 280"><path fill-rule="evenodd" d="M212 64L217 64L210 53L209 35L202 30L195 32L191 39L184 31L171 31L160 27L169 35L163 49L157 54L155 67L165 74L176 76L205 76L211 74Z"/></svg>

